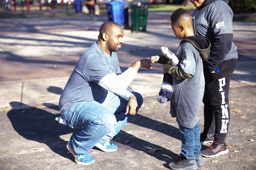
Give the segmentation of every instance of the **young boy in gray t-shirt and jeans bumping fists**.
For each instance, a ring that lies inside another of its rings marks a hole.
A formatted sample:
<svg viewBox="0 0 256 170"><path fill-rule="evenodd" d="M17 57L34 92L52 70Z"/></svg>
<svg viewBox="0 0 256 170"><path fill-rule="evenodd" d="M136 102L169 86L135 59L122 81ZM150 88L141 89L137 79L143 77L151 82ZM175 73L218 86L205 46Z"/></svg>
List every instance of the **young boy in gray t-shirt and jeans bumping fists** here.
<svg viewBox="0 0 256 170"><path fill-rule="evenodd" d="M198 113L204 94L202 59L208 60L211 43L208 39L194 35L192 15L179 8L171 15L171 27L178 39L183 39L176 56L177 66L168 64L164 55L151 56L152 63L165 64L164 72L171 76L173 96L170 99L170 114L176 117L181 132L181 158L170 162L173 170L194 170L203 166L200 143Z"/></svg>

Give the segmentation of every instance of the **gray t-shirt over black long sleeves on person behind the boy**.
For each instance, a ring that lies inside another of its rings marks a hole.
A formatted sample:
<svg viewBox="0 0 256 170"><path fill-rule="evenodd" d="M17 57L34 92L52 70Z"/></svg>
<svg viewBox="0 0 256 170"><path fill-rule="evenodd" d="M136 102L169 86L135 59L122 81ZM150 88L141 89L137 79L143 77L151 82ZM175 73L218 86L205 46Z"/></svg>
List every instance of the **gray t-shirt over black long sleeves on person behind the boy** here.
<svg viewBox="0 0 256 170"><path fill-rule="evenodd" d="M233 11L228 0L205 0L192 13L194 32L211 41L209 60L203 62L204 69L215 71L217 65L232 58L238 58L233 40Z"/></svg>

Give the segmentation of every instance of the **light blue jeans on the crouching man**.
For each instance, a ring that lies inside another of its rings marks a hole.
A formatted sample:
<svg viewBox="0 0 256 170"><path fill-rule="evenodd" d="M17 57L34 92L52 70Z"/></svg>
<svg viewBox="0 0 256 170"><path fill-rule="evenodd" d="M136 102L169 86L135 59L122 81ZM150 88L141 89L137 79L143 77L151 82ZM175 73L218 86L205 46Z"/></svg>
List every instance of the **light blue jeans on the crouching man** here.
<svg viewBox="0 0 256 170"><path fill-rule="evenodd" d="M143 103L142 96L133 92L137 98L138 108ZM100 100L75 103L66 110L63 117L71 128L83 128L73 138L74 151L77 154L87 153L101 139L110 141L132 118L125 115L128 101L108 92Z"/></svg>

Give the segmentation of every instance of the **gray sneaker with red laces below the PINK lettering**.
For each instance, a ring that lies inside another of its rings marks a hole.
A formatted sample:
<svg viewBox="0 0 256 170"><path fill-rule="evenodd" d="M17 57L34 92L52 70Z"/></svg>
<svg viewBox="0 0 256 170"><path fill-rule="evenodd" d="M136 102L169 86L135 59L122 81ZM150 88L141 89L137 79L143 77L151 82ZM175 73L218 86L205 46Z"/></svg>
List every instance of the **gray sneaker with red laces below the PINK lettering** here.
<svg viewBox="0 0 256 170"><path fill-rule="evenodd" d="M209 158L224 155L227 153L227 145L218 143L212 143L211 146L209 146L206 150L201 151L202 156Z"/></svg>

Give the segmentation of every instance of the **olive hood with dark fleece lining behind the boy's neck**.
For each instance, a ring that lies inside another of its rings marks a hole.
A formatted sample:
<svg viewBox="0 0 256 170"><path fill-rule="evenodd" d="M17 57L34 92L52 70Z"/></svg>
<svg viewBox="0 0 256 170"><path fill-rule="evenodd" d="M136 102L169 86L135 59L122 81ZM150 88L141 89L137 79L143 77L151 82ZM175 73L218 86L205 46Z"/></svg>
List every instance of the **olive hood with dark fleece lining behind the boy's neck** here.
<svg viewBox="0 0 256 170"><path fill-rule="evenodd" d="M201 35L188 36L180 41L180 43L182 42L191 43L194 48L199 52L202 60L208 61L210 56L211 42L207 38Z"/></svg>

